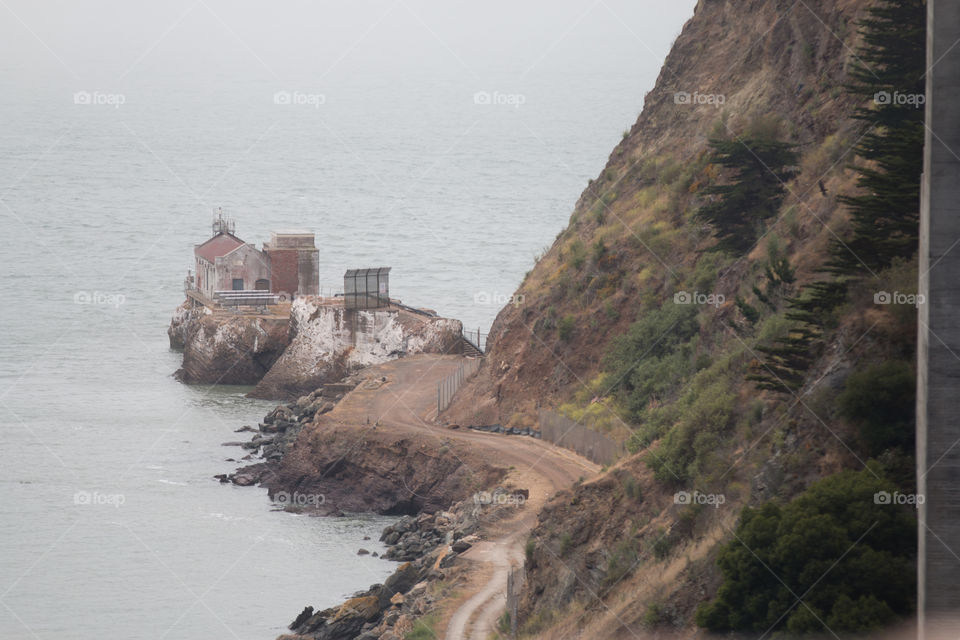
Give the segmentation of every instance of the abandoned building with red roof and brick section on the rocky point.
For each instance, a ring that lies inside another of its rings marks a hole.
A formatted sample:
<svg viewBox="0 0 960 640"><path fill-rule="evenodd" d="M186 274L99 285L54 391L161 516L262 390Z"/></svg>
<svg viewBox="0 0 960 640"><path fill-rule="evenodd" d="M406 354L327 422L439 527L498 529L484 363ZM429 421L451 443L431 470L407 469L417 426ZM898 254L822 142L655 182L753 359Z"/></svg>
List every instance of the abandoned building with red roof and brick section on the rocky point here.
<svg viewBox="0 0 960 640"><path fill-rule="evenodd" d="M320 251L314 234L306 231L273 232L261 251L238 238L234 222L221 211L214 217L213 236L193 253L195 271L188 273L186 287L208 301L240 295L233 292L273 294L283 301L319 291Z"/></svg>

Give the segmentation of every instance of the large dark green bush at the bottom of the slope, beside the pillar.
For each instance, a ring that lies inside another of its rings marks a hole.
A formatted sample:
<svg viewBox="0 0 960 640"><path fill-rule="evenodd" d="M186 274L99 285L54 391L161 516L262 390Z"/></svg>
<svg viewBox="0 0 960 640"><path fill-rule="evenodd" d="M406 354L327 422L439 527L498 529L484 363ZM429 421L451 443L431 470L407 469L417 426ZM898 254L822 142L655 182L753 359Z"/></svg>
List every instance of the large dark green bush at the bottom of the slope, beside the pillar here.
<svg viewBox="0 0 960 640"><path fill-rule="evenodd" d="M895 487L879 466L825 478L785 506L744 508L717 558L724 582L696 622L712 631L870 631L907 616L916 589L916 521L878 504ZM803 604L797 595L803 594Z"/></svg>

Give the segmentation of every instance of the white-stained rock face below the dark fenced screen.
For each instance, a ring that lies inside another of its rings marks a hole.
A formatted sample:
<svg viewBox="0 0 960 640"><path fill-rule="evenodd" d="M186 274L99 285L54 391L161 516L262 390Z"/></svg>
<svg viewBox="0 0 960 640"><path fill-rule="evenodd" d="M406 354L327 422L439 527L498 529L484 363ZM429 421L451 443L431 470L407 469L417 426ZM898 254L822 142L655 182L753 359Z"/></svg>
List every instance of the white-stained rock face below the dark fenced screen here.
<svg viewBox="0 0 960 640"><path fill-rule="evenodd" d="M290 310L290 346L250 394L288 399L363 367L414 353L454 353L458 320L403 309L348 311L310 298Z"/></svg>

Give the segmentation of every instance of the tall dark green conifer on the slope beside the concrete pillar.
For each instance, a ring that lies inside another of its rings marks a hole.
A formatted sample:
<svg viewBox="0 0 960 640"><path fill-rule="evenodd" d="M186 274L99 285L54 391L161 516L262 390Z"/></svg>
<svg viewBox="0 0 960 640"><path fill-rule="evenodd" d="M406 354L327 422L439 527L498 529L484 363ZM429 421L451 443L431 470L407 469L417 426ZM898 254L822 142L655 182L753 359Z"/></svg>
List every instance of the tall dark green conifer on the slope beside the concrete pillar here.
<svg viewBox="0 0 960 640"><path fill-rule="evenodd" d="M847 299L849 282L885 269L897 258L910 258L918 248L925 3L879 0L867 10L859 28L863 43L850 67L847 90L865 103L854 113L864 123L855 147L860 193L837 198L849 208L852 228L844 238L831 241L822 269L827 278L788 299L787 317L798 321L801 329L760 349L764 362L756 363L751 379L761 388L781 392L799 388L822 346L821 336L830 328L834 310ZM881 441L891 435L881 431L869 431L868 448L882 446Z"/></svg>

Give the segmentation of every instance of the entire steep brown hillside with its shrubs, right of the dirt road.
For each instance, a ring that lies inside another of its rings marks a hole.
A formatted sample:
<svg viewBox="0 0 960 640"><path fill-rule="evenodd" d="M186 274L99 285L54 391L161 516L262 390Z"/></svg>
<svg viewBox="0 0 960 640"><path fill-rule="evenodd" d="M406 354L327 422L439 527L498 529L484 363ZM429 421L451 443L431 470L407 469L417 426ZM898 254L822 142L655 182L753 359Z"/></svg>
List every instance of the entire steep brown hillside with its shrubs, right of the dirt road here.
<svg viewBox="0 0 960 640"><path fill-rule="evenodd" d="M850 250L868 274L844 280L829 306L797 303L819 291L854 232L844 198L861 193L851 163L869 129L856 115L870 107L848 85L862 62L857 24L876 4L701 0L636 123L519 302L497 316L486 363L447 418L532 427L546 408L631 451L540 514L527 544L525 637L689 634L723 581L716 559L744 506L769 515L799 496L815 510L822 496L810 488L831 478L824 487L850 495L910 490L907 427L877 435L864 405L911 384L915 309L876 296L915 293L915 260L871 268ZM695 215L717 202L716 185L735 184L711 139L757 160L797 154L756 236L731 236L737 251L713 250L716 229ZM898 410L883 405L880 420ZM866 618L894 620L910 607L898 597L887 598L899 603L889 615ZM832 605L822 606L827 618ZM791 614L790 630L820 628L807 622Z"/></svg>

